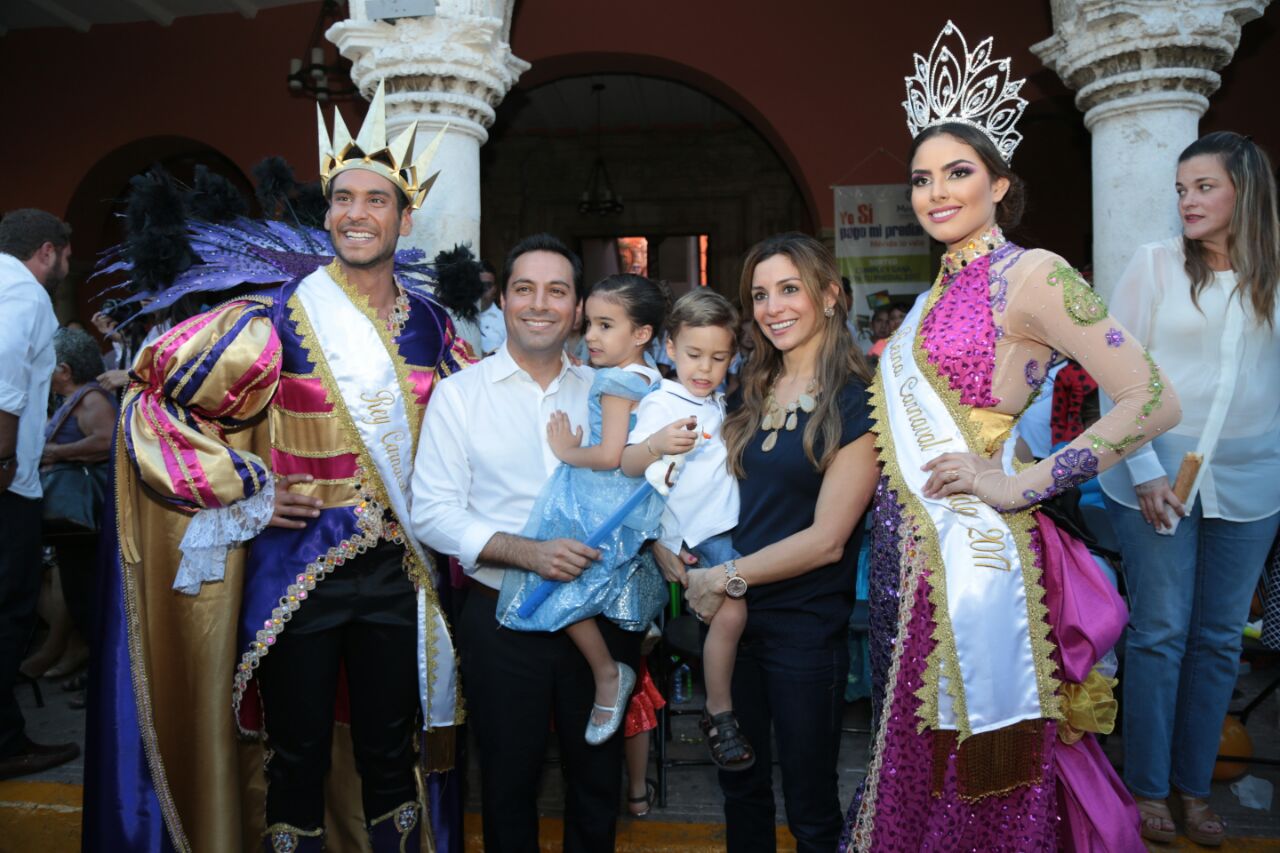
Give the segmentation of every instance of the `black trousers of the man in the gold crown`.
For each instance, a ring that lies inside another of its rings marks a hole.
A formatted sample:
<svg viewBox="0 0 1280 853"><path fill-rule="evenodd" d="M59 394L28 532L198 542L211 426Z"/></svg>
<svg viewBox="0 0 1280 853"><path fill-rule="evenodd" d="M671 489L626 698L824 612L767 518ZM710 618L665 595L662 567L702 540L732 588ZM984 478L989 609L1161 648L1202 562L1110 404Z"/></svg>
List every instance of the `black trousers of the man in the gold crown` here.
<svg viewBox="0 0 1280 853"><path fill-rule="evenodd" d="M266 822L324 826L333 707L346 662L365 820L417 799L417 603L404 549L383 543L307 596L259 669L270 758Z"/></svg>

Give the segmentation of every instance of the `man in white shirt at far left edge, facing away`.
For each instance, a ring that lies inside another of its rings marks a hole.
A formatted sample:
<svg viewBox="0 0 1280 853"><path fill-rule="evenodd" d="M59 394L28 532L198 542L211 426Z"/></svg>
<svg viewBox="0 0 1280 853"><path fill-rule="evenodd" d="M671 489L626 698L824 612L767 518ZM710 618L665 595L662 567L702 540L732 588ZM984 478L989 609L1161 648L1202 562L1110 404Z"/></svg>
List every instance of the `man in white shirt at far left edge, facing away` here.
<svg viewBox="0 0 1280 853"><path fill-rule="evenodd" d="M49 295L67 278L70 234L44 210L0 220L0 779L79 754L74 743L32 743L13 695L40 594L40 455L58 328Z"/></svg>

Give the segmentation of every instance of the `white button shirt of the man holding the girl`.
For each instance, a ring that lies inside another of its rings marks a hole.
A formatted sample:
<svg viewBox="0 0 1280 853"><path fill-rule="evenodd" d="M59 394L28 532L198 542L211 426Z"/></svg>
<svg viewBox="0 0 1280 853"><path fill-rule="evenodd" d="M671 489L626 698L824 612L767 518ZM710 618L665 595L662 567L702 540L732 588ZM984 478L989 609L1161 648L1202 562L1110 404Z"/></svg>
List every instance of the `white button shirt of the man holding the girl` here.
<svg viewBox="0 0 1280 853"><path fill-rule="evenodd" d="M431 392L413 461L413 534L498 589L503 566L479 562L495 533L520 534L559 460L547 444L556 410L588 432L590 368L564 359L544 391L507 346Z"/></svg>

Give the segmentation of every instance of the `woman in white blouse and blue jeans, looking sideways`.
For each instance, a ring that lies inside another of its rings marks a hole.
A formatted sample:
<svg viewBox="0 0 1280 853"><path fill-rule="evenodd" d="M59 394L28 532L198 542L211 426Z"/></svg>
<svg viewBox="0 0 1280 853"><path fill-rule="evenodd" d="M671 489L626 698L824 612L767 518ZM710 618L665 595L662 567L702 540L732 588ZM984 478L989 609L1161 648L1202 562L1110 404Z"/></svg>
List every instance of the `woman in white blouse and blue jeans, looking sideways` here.
<svg viewBox="0 0 1280 853"><path fill-rule="evenodd" d="M1102 475L1129 585L1124 776L1143 835L1221 844L1206 798L1249 599L1280 524L1280 224L1271 164L1210 133L1178 161L1183 236L1138 250L1116 320L1164 368L1183 421ZM1119 336L1120 332L1116 332ZM1119 341L1115 346L1119 346ZM1185 506L1171 483L1202 453Z"/></svg>

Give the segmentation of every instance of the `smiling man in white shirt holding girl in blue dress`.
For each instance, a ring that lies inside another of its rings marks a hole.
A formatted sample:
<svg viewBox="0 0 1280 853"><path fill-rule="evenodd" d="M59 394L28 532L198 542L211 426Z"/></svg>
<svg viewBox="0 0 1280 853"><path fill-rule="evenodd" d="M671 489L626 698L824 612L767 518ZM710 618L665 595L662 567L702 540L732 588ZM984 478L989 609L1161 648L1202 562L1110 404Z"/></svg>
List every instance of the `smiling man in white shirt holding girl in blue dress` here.
<svg viewBox="0 0 1280 853"><path fill-rule="evenodd" d="M594 684L563 633L513 631L495 619L504 573L571 580L599 556L572 539L518 535L558 464L548 418L559 410L586 428L591 370L563 352L581 318L582 266L558 240L536 234L511 250L504 273L506 345L433 392L413 464L413 533L456 556L474 581L454 631L485 849L538 849L538 780L554 719L567 781L562 849L598 853L614 848L623 739L584 740ZM598 621L614 658L637 665L640 635Z"/></svg>

